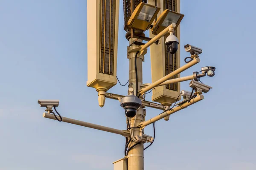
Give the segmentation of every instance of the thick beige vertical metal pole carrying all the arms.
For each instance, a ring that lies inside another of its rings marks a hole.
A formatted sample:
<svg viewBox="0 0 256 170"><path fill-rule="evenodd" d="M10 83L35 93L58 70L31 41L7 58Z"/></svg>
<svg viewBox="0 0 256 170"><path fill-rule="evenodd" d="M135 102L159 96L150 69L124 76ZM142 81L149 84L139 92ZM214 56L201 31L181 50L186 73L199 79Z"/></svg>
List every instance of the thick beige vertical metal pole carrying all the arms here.
<svg viewBox="0 0 256 170"><path fill-rule="evenodd" d="M130 42L133 38L130 38ZM128 59L129 59L129 88L133 88L134 92L136 91L136 77L135 77L135 54L137 51L134 51L134 48L138 48L139 45L131 45L128 48ZM130 51L130 52L129 52ZM132 51L132 52L131 52ZM138 90L140 90L140 85L142 85L142 56L140 53L137 55L137 76L138 76ZM145 121L144 116L145 109L140 108L137 110L136 120L135 117L131 118L130 126L135 127L141 122ZM134 122L135 121L135 122ZM144 133L144 130L142 130ZM134 136L140 135L140 129L133 130ZM128 147L136 144L137 142L132 141ZM143 143L137 144L133 147L128 153L128 170L144 170L144 146Z"/></svg>

